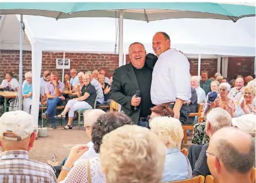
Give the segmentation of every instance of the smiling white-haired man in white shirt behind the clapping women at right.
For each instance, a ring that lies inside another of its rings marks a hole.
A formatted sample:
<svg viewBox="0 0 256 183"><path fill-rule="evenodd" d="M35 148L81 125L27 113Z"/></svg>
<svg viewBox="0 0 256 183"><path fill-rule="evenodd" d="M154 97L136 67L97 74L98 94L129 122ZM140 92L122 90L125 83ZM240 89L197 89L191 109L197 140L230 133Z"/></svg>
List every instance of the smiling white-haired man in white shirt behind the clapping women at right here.
<svg viewBox="0 0 256 183"><path fill-rule="evenodd" d="M229 91L229 94L227 95L230 99L234 101L234 103L237 105L237 103L240 101L242 94L244 93L244 79L241 77L238 77L235 80L235 87L231 88Z"/></svg>

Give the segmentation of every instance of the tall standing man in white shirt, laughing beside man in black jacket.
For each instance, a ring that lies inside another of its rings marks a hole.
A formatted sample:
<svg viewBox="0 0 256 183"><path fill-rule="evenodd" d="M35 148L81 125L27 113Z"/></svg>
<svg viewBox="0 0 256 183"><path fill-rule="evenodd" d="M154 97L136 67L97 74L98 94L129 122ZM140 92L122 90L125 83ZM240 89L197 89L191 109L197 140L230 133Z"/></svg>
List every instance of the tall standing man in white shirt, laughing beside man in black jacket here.
<svg viewBox="0 0 256 183"><path fill-rule="evenodd" d="M152 103L170 104L174 117L184 124L190 114L190 62L184 54L170 48L167 33L156 33L152 43L153 51L158 56L152 75Z"/></svg>

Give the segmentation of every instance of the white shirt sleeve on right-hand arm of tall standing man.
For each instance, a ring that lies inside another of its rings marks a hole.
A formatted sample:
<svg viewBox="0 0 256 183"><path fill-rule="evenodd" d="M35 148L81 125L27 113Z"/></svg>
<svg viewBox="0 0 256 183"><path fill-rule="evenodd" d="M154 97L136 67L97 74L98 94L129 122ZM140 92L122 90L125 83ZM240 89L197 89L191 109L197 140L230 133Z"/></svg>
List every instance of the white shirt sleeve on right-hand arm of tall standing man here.
<svg viewBox="0 0 256 183"><path fill-rule="evenodd" d="M190 87L190 62L186 56L178 51L175 52L175 61L171 61L171 79L175 85L176 98L189 101L191 98Z"/></svg>

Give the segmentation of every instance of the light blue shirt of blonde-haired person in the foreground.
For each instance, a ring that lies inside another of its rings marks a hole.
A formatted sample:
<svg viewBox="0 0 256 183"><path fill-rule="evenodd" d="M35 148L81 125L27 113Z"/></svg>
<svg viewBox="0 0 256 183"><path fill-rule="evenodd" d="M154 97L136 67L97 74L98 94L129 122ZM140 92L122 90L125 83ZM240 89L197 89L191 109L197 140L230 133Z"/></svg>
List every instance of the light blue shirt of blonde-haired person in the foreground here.
<svg viewBox="0 0 256 183"><path fill-rule="evenodd" d="M189 179L192 178L190 161L178 148L169 148L165 156L162 182L181 181L187 179L188 168L190 169Z"/></svg>

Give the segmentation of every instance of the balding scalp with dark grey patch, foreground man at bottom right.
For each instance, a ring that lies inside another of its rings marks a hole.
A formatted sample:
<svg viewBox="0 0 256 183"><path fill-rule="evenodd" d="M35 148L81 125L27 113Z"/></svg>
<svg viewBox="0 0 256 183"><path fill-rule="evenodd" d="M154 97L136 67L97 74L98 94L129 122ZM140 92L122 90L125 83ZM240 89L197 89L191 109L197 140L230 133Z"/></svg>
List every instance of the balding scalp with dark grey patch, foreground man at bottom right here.
<svg viewBox="0 0 256 183"><path fill-rule="evenodd" d="M255 143L252 136L242 130L230 127L217 130L211 137L208 150L229 173L245 174L254 166Z"/></svg>

